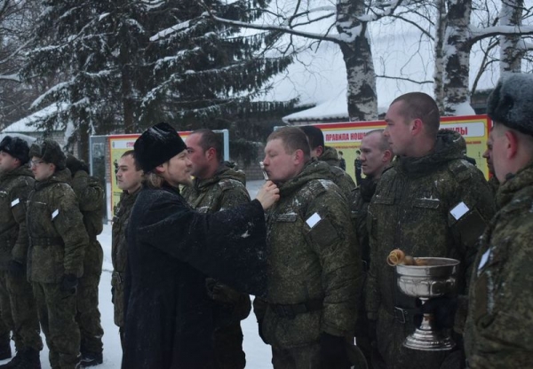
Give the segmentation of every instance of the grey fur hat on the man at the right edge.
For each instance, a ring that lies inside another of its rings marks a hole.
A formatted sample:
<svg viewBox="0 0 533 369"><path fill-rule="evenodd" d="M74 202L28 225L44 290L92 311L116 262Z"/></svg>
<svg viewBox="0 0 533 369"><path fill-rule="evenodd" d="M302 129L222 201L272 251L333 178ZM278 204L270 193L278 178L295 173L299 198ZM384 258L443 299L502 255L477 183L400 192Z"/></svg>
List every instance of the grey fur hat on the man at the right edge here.
<svg viewBox="0 0 533 369"><path fill-rule="evenodd" d="M533 75L506 73L487 101L491 120L533 135Z"/></svg>

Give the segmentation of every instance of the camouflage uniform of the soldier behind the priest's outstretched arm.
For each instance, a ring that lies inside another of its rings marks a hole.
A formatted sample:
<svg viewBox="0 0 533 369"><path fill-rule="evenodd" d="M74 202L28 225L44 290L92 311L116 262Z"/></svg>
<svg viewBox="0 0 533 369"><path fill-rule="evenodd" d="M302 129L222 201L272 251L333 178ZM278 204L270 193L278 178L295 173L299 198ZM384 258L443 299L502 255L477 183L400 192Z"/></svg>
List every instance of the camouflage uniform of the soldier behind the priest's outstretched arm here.
<svg viewBox="0 0 533 369"><path fill-rule="evenodd" d="M213 177L195 179L194 185L185 187L182 195L197 211L214 213L250 202L245 184L243 171L223 164ZM240 322L250 314L250 296L239 294L214 279L207 279L207 287L208 294L215 303L215 352L219 368L241 369L246 365L246 358Z"/></svg>

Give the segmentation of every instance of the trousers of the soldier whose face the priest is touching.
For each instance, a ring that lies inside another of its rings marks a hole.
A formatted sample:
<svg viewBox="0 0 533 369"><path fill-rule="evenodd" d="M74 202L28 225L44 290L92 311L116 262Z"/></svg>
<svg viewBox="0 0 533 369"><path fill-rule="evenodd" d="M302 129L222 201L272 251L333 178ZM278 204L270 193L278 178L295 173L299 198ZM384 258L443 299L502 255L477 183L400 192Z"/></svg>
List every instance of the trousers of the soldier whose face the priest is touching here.
<svg viewBox="0 0 533 369"><path fill-rule="evenodd" d="M292 349L272 348L274 369L322 369L318 343Z"/></svg>

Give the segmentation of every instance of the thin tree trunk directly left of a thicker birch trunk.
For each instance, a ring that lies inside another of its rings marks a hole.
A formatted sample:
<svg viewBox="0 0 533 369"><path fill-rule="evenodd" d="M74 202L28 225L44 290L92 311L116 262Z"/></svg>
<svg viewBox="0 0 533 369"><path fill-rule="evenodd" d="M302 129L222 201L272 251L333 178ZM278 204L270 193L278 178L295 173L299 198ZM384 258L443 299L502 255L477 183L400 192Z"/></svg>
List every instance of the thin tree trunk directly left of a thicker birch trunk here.
<svg viewBox="0 0 533 369"><path fill-rule="evenodd" d="M439 111L444 114L444 52L442 44L444 43L444 31L446 30L446 1L436 0L437 19L435 21L435 43L434 43L434 95L439 106Z"/></svg>

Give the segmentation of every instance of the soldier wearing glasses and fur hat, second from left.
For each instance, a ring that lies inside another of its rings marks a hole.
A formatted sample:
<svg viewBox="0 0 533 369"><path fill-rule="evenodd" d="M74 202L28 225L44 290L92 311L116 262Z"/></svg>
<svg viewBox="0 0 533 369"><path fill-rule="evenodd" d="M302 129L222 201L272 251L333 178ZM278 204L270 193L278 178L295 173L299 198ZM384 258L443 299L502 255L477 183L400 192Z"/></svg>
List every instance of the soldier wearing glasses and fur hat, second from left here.
<svg viewBox="0 0 533 369"><path fill-rule="evenodd" d="M44 140L29 151L35 189L28 197L28 279L50 349L52 369L74 369L80 361L76 287L89 246L70 171L60 145Z"/></svg>

